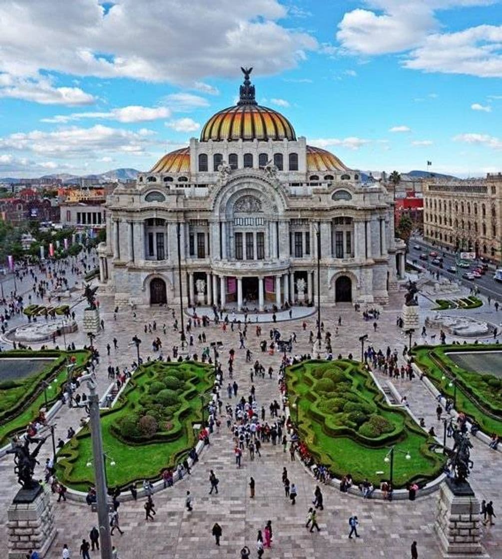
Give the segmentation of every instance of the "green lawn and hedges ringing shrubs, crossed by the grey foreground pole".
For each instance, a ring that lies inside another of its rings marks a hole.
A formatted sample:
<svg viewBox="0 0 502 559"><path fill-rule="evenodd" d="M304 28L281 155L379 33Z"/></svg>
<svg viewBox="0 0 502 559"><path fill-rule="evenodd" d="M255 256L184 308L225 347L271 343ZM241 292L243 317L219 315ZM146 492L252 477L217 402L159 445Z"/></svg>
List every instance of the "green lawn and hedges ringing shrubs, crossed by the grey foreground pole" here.
<svg viewBox="0 0 502 559"><path fill-rule="evenodd" d="M140 401L148 394L148 387L156 381L159 373L182 369L190 373L190 387L182 395L182 406L173 414L170 428L160 430L151 439L139 442L133 439L118 437L120 420L138 413ZM201 421L200 395L205 394L213 386L213 369L201 363L161 363L155 362L142 367L133 377L133 382L121 396L114 409L104 411L101 415L103 447L115 462L115 466L107 465L108 485L128 486L133 481L144 478L158 479L164 468L175 466L196 442L194 423ZM208 401L209 396L205 397ZM65 485L87 491L93 484L93 468L87 463L92 457L91 435L85 428L69 442L60 452L58 460L58 478Z"/></svg>

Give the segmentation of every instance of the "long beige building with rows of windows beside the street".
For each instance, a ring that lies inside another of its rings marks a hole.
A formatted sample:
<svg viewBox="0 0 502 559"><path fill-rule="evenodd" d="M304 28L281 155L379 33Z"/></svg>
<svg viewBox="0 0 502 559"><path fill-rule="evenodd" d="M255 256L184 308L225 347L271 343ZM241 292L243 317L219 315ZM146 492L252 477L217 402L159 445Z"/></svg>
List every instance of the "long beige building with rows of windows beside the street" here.
<svg viewBox="0 0 502 559"><path fill-rule="evenodd" d="M502 173L424 184L424 238L502 261Z"/></svg>

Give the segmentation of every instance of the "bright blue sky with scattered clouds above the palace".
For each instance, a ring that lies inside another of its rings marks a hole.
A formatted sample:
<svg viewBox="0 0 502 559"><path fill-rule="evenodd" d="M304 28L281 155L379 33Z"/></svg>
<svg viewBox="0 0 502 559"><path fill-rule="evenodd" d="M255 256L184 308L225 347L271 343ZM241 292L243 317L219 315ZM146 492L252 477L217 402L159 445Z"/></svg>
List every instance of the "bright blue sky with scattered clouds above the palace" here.
<svg viewBox="0 0 502 559"><path fill-rule="evenodd" d="M148 169L235 102L366 170L502 170L500 0L4 0L0 176Z"/></svg>

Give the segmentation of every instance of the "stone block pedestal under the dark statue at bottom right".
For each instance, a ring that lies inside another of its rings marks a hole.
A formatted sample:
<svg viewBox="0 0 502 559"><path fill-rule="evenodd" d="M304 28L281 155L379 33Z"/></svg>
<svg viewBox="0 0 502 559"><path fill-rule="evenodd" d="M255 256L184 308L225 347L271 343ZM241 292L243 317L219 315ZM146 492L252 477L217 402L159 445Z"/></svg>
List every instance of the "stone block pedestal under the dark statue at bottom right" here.
<svg viewBox="0 0 502 559"><path fill-rule="evenodd" d="M444 557L489 557L480 543L480 503L468 483L441 485L434 530Z"/></svg>

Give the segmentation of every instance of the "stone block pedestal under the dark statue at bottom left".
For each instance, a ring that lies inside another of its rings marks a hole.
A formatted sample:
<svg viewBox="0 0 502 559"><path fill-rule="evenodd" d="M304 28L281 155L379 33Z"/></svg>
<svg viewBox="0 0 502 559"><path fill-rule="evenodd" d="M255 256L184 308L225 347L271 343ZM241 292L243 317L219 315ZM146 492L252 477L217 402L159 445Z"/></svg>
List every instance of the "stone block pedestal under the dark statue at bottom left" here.
<svg viewBox="0 0 502 559"><path fill-rule="evenodd" d="M49 492L21 489L7 509L8 559L26 559L30 549L45 557L56 536Z"/></svg>

